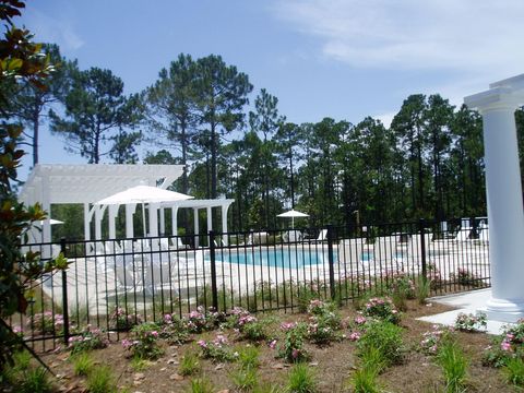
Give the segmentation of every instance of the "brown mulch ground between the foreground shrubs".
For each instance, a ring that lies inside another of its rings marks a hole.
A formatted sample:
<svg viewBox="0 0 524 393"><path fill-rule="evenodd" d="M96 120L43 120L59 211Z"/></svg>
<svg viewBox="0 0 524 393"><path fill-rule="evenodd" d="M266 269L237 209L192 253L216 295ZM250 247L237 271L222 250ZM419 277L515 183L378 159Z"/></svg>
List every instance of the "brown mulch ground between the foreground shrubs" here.
<svg viewBox="0 0 524 393"><path fill-rule="evenodd" d="M429 331L431 325L417 321L417 317L434 314L450 310L449 307L432 303L418 305L416 301L408 302L408 309L403 314L401 322L404 329L404 341L408 354L403 365L391 367L380 376L380 383L386 392L441 392L443 379L441 370L434 365L430 356L416 350L424 332ZM343 317L354 317L356 312L352 306L343 307ZM278 330L282 321L305 320L305 314L273 314L276 315L274 331ZM259 315L263 318L264 315ZM196 350L195 341L212 338L216 332L207 332L194 335L193 342L180 346L165 345L165 355L158 360L151 362L145 369L136 371L131 367L129 354L116 342L108 348L93 352L93 357L100 365L109 365L116 378L118 386L127 392L187 392L190 388L191 377L181 377L177 373L179 359L187 350ZM225 331L233 341L233 331ZM468 392L514 392L502 379L500 370L484 367L481 354L490 344L490 336L484 333L457 333L458 343L471 358ZM236 342L235 345L247 345L247 342ZM282 359L275 358L275 350L262 344L261 366L259 369L260 385L284 386L289 365ZM332 343L327 346L307 346L312 357L311 368L319 380L320 392L350 392L348 379L356 367L355 343L349 340ZM43 359L50 365L60 380L58 385L62 392L85 391L85 380L74 377L69 353L45 354ZM214 364L211 360L201 360L202 374L213 384L216 392L235 392L230 373L238 366L233 364Z"/></svg>

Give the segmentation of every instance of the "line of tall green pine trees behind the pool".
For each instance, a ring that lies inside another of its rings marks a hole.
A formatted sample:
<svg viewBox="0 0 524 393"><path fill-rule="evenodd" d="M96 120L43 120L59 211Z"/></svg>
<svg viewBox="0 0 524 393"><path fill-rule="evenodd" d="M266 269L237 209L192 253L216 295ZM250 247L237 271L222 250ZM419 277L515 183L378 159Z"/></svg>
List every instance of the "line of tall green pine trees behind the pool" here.
<svg viewBox="0 0 524 393"><path fill-rule="evenodd" d="M56 64L46 90L9 86L34 164L43 122L87 163L138 163L143 144L143 163L186 166L177 191L235 199L239 230L288 225L276 215L291 207L311 226L486 214L481 117L439 94L410 95L390 127L371 117L296 124L265 88L249 107L249 76L221 56L181 53L126 95L110 70L81 70L56 45L44 52ZM515 116L522 145L524 111Z"/></svg>

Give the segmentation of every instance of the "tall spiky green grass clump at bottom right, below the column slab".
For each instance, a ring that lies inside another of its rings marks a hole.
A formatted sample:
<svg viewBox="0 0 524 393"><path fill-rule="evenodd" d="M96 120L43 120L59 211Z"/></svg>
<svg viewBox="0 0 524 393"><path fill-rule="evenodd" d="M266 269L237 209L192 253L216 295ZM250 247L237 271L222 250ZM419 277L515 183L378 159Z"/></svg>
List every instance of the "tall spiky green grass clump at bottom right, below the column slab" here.
<svg viewBox="0 0 524 393"><path fill-rule="evenodd" d="M455 341L445 341L437 355L448 393L464 392L467 382L468 359Z"/></svg>

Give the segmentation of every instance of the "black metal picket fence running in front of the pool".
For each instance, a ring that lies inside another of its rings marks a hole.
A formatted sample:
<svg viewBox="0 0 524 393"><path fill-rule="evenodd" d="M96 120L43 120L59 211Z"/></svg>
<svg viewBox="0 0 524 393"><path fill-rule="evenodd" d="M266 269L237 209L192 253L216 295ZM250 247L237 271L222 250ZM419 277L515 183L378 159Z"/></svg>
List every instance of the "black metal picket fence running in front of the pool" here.
<svg viewBox="0 0 524 393"><path fill-rule="evenodd" d="M313 297L344 303L386 293L400 275L427 278L431 295L456 293L490 285L488 242L485 221L420 221L26 245L43 263L63 253L69 269L33 283L28 312L10 322L45 350L78 327L118 334L199 306L287 312Z"/></svg>

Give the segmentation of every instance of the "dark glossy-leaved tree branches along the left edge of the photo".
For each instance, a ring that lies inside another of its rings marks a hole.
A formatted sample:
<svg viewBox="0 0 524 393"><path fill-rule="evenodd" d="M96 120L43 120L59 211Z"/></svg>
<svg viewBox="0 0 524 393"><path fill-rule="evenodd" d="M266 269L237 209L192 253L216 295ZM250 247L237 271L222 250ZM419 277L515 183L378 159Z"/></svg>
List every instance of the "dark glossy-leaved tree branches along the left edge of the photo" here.
<svg viewBox="0 0 524 393"><path fill-rule="evenodd" d="M0 318L7 320L15 312L25 312L25 291L32 281L55 269L52 261L40 263L38 253L21 254L20 242L27 239L33 222L45 218L38 204L25 206L20 203L12 184L17 183L17 168L24 156L19 147L22 127L11 117L13 91L17 83L31 83L45 90L44 80L52 66L41 56L41 45L32 41L32 34L16 28L12 19L21 15L23 2L2 3L0 19L5 32L0 39ZM23 277L23 281L22 281ZM0 325L0 370L12 361L20 337Z"/></svg>

